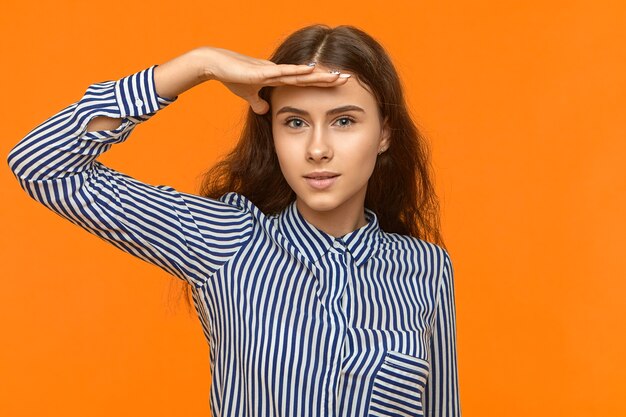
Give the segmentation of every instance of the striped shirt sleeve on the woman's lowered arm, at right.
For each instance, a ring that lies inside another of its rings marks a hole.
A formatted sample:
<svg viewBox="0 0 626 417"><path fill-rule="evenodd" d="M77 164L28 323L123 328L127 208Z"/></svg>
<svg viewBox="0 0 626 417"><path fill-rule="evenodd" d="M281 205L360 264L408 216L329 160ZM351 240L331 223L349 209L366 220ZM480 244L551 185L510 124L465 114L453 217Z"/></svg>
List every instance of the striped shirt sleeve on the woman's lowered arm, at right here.
<svg viewBox="0 0 626 417"><path fill-rule="evenodd" d="M460 417L461 403L456 352L454 271L444 250L444 266L431 338L431 369L426 385L426 417Z"/></svg>

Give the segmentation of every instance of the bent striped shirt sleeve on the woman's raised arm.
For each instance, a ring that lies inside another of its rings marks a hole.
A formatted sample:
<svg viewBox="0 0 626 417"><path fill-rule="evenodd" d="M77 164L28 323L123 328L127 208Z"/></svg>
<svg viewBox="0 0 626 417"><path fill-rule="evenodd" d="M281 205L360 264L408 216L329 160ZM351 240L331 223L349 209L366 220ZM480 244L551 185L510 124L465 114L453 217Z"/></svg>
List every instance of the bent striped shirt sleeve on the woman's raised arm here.
<svg viewBox="0 0 626 417"><path fill-rule="evenodd" d="M226 199L145 184L96 160L178 98L158 96L156 66L90 85L78 102L18 142L8 164L36 201L119 249L200 286L250 237L250 210ZM87 132L96 116L122 121L113 130Z"/></svg>

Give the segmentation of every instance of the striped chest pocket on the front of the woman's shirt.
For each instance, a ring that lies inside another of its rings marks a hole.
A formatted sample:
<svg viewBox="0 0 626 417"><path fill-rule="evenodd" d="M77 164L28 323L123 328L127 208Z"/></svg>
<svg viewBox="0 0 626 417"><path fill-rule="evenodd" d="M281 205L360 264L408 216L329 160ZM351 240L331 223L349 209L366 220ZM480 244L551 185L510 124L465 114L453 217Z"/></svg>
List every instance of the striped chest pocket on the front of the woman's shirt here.
<svg viewBox="0 0 626 417"><path fill-rule="evenodd" d="M374 376L368 417L424 416L422 398L430 364L424 359L387 351Z"/></svg>

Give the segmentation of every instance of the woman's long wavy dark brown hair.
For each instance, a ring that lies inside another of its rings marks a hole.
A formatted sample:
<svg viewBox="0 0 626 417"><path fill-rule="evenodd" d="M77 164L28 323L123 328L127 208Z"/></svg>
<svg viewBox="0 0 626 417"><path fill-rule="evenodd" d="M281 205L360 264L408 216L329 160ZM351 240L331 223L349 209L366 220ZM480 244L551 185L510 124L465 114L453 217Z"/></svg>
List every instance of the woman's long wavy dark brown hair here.
<svg viewBox="0 0 626 417"><path fill-rule="evenodd" d="M389 148L378 156L369 179L365 206L376 213L385 232L411 235L445 248L428 143L409 115L400 78L385 49L354 26L312 25L288 36L270 60L276 64L316 62L350 72L367 86L391 135ZM264 87L259 92L270 106L272 89ZM245 195L266 214L279 213L295 200L274 150L271 110L258 115L248 109L238 143L204 174L199 194L216 199L230 191ZM187 295L189 301L191 294Z"/></svg>

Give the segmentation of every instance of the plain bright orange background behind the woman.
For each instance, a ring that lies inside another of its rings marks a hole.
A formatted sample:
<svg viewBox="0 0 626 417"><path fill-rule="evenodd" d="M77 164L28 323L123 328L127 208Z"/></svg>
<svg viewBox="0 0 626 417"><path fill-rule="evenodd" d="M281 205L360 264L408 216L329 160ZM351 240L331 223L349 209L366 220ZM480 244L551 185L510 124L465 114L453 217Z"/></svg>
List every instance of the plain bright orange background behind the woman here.
<svg viewBox="0 0 626 417"><path fill-rule="evenodd" d="M445 3L4 1L1 153L89 84L194 47L267 57L306 24L362 27L432 143L463 415L624 416L626 6ZM100 160L197 192L244 109L203 84ZM0 177L0 415L209 415L208 345L175 278Z"/></svg>

